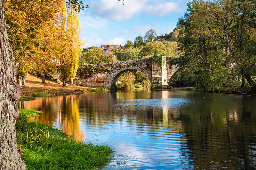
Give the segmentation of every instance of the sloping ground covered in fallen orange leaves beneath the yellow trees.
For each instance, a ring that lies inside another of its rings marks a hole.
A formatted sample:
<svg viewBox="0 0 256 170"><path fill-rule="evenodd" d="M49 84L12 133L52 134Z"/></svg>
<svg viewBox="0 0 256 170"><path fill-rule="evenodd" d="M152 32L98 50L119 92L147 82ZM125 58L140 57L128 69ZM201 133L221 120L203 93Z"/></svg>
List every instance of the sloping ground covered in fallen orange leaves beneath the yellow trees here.
<svg viewBox="0 0 256 170"><path fill-rule="evenodd" d="M28 77L25 79L25 86L21 86L21 96L32 96L33 94L48 94L49 96L74 94L96 89L78 85L70 86L69 84L67 84L67 87L62 87L62 82L46 80L46 84L42 84L41 81L42 78L28 74Z"/></svg>

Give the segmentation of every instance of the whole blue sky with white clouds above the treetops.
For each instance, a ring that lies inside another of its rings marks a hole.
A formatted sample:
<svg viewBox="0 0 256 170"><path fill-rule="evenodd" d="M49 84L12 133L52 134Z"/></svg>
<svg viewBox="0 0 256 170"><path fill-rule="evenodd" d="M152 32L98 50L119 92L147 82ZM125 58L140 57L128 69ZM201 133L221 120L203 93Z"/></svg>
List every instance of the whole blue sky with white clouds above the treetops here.
<svg viewBox="0 0 256 170"><path fill-rule="evenodd" d="M81 10L81 37L84 47L101 44L124 45L154 29L158 35L170 33L186 12L189 0L83 1L90 8Z"/></svg>

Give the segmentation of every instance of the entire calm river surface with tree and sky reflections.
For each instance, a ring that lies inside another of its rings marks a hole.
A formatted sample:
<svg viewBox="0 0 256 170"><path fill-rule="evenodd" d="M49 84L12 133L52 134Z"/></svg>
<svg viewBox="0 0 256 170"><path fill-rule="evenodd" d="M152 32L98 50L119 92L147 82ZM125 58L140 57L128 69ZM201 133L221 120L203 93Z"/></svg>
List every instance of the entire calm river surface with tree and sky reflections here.
<svg viewBox="0 0 256 170"><path fill-rule="evenodd" d="M256 169L256 96L117 91L20 102L31 121L109 145L112 169Z"/></svg>

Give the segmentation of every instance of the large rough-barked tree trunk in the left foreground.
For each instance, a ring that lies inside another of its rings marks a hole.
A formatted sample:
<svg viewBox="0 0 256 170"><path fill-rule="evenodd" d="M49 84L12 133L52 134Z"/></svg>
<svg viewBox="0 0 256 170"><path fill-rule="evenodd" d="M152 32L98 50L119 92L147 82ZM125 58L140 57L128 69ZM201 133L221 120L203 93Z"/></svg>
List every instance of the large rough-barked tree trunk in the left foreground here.
<svg viewBox="0 0 256 170"><path fill-rule="evenodd" d="M15 123L20 87L15 82L16 67L8 43L4 0L0 0L0 169L26 169L16 143Z"/></svg>

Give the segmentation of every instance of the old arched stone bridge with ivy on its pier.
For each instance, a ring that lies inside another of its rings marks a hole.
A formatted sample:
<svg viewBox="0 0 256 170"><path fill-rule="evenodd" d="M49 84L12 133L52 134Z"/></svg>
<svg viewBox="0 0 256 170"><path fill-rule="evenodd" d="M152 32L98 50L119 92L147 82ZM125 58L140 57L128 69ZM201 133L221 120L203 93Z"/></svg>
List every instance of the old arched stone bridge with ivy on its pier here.
<svg viewBox="0 0 256 170"><path fill-rule="evenodd" d="M165 56L162 56L165 57ZM176 66L169 68L169 61L176 57L166 56L164 64L152 60L152 57L120 61L112 63L80 65L74 84L95 88L115 89L116 81L121 74L128 70L139 70L151 82L151 88L165 88L171 83L174 75L179 71Z"/></svg>

